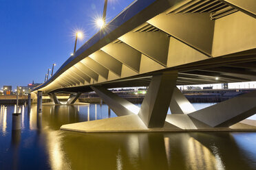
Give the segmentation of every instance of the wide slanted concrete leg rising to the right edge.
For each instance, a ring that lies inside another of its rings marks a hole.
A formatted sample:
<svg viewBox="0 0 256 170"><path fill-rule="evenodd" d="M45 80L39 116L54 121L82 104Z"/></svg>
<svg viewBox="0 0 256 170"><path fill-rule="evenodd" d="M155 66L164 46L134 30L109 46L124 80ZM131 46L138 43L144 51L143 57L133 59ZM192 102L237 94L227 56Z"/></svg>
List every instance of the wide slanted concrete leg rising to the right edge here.
<svg viewBox="0 0 256 170"><path fill-rule="evenodd" d="M256 114L255 101L256 90L188 115L211 127L229 127Z"/></svg>

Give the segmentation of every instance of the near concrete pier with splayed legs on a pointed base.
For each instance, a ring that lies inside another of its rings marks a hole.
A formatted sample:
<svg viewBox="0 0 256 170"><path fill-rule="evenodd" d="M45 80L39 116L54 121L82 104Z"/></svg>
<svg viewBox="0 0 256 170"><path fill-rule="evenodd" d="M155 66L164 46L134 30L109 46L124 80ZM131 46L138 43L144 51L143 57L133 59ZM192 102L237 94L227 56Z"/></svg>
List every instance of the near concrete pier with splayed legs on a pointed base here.
<svg viewBox="0 0 256 170"><path fill-rule="evenodd" d="M103 88L91 88L118 117L63 125L76 132L179 132L256 130L239 123L256 113L256 90L195 110L175 86L177 73L154 75L140 108ZM167 114L170 108L171 114Z"/></svg>

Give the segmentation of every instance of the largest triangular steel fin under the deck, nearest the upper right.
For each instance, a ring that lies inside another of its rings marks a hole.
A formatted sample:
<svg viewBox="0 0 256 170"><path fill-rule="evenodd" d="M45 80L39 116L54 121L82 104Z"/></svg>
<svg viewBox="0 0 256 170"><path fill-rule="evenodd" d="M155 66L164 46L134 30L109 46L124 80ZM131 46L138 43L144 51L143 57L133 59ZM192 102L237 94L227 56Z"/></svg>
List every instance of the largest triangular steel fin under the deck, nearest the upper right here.
<svg viewBox="0 0 256 170"><path fill-rule="evenodd" d="M215 21L209 14L159 14L147 21L171 36L211 56Z"/></svg>

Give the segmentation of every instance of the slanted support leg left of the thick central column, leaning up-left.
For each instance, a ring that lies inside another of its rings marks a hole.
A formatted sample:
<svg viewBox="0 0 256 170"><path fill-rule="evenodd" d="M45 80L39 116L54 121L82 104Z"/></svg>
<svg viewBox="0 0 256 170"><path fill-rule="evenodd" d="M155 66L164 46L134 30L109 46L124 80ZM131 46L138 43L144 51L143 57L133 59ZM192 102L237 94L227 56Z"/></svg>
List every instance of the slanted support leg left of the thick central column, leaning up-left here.
<svg viewBox="0 0 256 170"><path fill-rule="evenodd" d="M101 99L113 110L118 117L130 115L130 114L138 114L140 108L131 104L126 99L122 99L115 93L101 87L101 86L91 86L92 90L94 90Z"/></svg>

